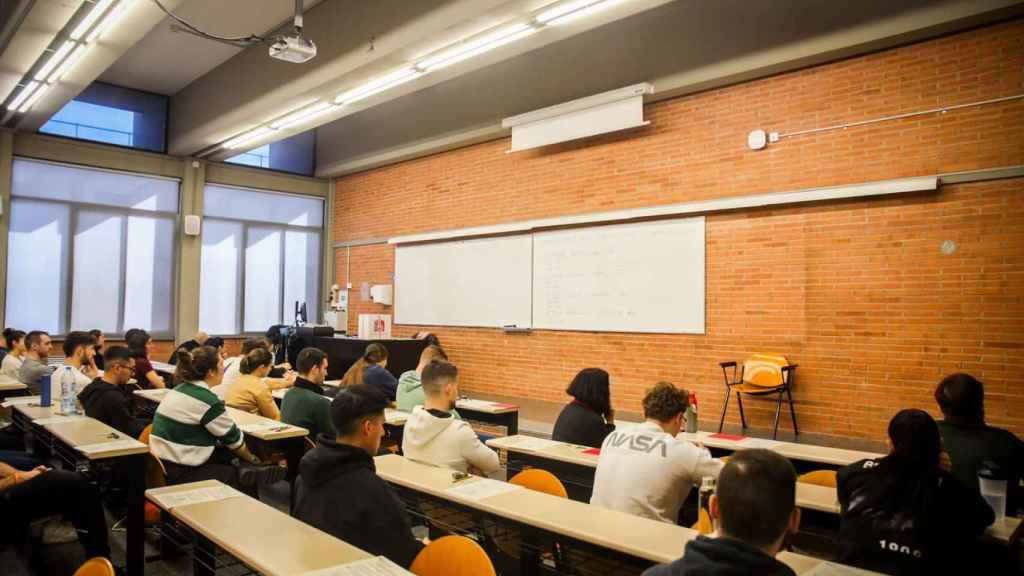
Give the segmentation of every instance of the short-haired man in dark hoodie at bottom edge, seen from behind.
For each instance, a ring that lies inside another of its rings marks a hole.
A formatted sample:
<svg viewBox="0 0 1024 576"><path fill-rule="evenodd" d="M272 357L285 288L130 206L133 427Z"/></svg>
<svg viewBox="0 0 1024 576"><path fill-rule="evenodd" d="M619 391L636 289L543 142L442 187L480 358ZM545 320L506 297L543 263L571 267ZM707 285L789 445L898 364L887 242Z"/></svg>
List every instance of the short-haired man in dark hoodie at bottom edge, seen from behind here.
<svg viewBox="0 0 1024 576"><path fill-rule="evenodd" d="M718 476L710 512L717 538L697 536L683 558L643 576L796 576L775 560L800 527L797 470L770 450L741 450Z"/></svg>

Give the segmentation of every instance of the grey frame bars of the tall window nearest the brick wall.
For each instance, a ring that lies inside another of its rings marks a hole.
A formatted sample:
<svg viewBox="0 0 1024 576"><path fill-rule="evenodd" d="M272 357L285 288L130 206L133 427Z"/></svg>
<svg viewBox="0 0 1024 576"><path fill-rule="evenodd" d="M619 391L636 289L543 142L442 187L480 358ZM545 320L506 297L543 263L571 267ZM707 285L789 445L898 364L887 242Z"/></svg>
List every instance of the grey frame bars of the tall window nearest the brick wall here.
<svg viewBox="0 0 1024 576"><path fill-rule="evenodd" d="M252 166L248 166L248 167L252 168ZM257 170L266 170L267 168L256 168L256 169ZM324 266L324 262L325 262L325 260L324 260L324 252L325 252L325 250L324 250L324 238L325 238L325 236L324 235L327 233L327 224L328 224L328 219L327 219L327 215L328 215L328 205L327 204L328 204L328 202L327 202L327 198L324 198L322 196L314 196L314 195L296 194L296 193L291 193L291 192L281 192L281 191L269 190L269 189L239 187L239 186L226 184L226 183L217 182L217 181L207 181L207 182L205 182L205 184L203 187L204 188L204 194L205 194L206 187L209 187L209 186L214 186L214 187L217 187L217 188L227 188L227 189L232 189L232 190L237 190L237 191L240 191L240 192L257 192L257 193L260 193L260 194L275 194L275 195L279 195L279 196L290 196L292 198L302 198L302 199L305 199L305 200L315 199L315 200L319 200L321 201L321 208L323 210L322 219L321 219L321 222L323 222L323 223L319 227L311 227L311 225L301 225L301 224L286 224L286 223L282 223L282 222L271 222L271 221L265 221L265 220L254 220L252 218L228 218L228 217L225 217L225 216L208 216L208 215L206 215L206 206L205 206L205 202L204 202L204 207L203 207L203 209L204 209L204 213L203 213L204 224L208 220L218 221L218 222L231 222L231 223L242 224L242 239L241 239L241 242L239 244L239 246L240 246L239 252L240 253L239 253L239 258L238 258L239 259L239 264L238 264L238 266L239 266L238 268L239 285L236 288L236 298L237 298L237 308L236 308L236 312L238 313L238 324L234 327L236 331L233 333L229 333L229 334L227 334L227 333L219 333L219 332L211 332L210 334L213 335L213 336L220 336L220 337L224 337L224 338L244 338L244 337L262 336L263 335L262 331L260 331L260 332L247 332L246 329L245 329L246 328L246 250L249 248L249 229L252 228L252 227L266 228L266 229L273 229L273 230L281 231L281 243L280 243L281 265L280 265L280 271L279 271L280 274L281 274L281 276L280 276L281 282L280 282L280 286L278 287L278 294L281 297L281 311L280 311L281 314L282 314L281 324L286 324L288 326L291 326L294 323L294 319L285 318L285 312L284 312L285 311L284 306L286 304L286 302L285 302L285 270L287 268L287 265L286 265L287 264L287 254L285 253L285 247L287 245L287 240L286 240L285 233L287 233L289 231L292 231L292 232L302 232L302 233L315 232L315 233L317 233L319 235L319 242L317 243L318 254L317 254L317 258L316 258L316 261L317 261L317 266L316 266L316 269L317 269L316 270L316 305L317 305L317 308L316 308L316 311L317 311L317 313L321 312L319 311L319 299L323 297L323 291L324 291L324 268L325 268ZM200 251L202 252L202 247L200 248ZM202 260L202 254L200 255L200 259ZM201 264L200 268L202 269L202 264ZM200 280L199 280L199 282L200 282L199 295L200 295L200 298L202 298L202 295L203 295L203 277L202 277L202 271L200 272ZM201 308L202 307L202 302L200 302L200 305L197 306L197 307ZM309 307L308 303L307 303L306 307L307 308ZM202 324L203 324L203 320L202 319L199 320L199 324L200 324L200 327L202 328L203 327L202 326Z"/></svg>

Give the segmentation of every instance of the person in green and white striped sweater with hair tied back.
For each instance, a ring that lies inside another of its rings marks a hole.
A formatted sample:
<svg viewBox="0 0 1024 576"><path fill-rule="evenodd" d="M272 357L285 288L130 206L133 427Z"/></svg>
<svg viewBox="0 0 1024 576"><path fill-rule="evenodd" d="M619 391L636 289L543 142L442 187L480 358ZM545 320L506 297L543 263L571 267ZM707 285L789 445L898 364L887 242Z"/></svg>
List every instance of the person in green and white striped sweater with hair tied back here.
<svg viewBox="0 0 1024 576"><path fill-rule="evenodd" d="M217 349L179 351L177 360L177 385L157 408L150 436L150 450L164 462L168 483L219 480L246 489L282 480L285 468L261 464L249 452L224 403L210 392L224 374Z"/></svg>

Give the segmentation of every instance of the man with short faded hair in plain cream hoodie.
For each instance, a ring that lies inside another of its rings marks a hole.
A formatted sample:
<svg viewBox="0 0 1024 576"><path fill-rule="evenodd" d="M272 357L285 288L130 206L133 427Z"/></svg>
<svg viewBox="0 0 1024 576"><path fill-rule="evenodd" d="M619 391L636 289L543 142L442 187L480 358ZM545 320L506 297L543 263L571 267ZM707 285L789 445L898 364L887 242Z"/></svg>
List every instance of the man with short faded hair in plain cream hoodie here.
<svg viewBox="0 0 1024 576"><path fill-rule="evenodd" d="M406 421L401 451L407 458L461 471L489 475L498 470L498 453L473 428L452 414L459 399L459 370L432 361L423 368L423 406Z"/></svg>

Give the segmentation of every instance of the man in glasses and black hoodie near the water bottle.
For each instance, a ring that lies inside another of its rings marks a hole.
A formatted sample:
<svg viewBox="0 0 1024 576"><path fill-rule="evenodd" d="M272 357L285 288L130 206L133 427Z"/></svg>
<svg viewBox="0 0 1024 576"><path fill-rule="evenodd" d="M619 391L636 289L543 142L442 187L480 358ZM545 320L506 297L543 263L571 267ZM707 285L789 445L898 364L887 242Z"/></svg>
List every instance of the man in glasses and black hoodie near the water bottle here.
<svg viewBox="0 0 1024 576"><path fill-rule="evenodd" d="M138 438L145 422L132 416L131 400L125 396L125 385L135 371L132 352L125 346L111 346L103 354L103 375L89 382L78 400L90 418Z"/></svg>

